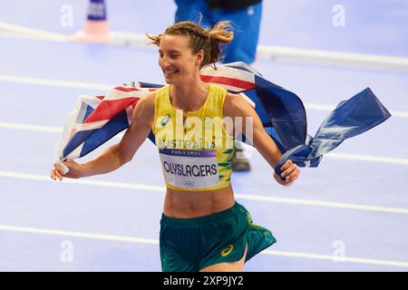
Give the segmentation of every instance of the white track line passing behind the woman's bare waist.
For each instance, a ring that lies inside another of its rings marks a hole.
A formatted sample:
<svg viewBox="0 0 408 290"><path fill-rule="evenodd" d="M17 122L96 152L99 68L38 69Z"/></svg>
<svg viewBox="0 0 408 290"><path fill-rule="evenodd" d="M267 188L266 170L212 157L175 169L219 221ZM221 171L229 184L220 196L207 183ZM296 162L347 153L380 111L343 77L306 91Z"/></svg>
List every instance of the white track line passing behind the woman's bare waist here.
<svg viewBox="0 0 408 290"><path fill-rule="evenodd" d="M34 175L34 174L18 173L18 172L10 172L10 171L0 171L0 178L24 179L24 180L36 180L36 181L48 181L48 182L63 182L63 183L69 183L69 184L96 186L96 187L113 188L113 189L147 190L147 191L159 192L160 194L164 194L166 190L165 187L160 187L160 186L152 186L152 185L137 184L137 183L114 182L114 181L102 181L102 180L95 180L95 179L63 179L63 181L60 181L60 180L54 181L49 176L46 176L46 175ZM138 193L143 193L143 191L140 191ZM311 200L311 199L301 199L301 198L277 198L277 197L271 197L271 196L260 196L260 195L255 195L255 194L242 194L242 193L236 193L235 196L236 198L241 198L241 199L273 202L273 203L284 203L284 204L314 206L314 207L324 207L324 208L342 208L342 209L352 209L352 210L408 215L408 208L369 206L369 205L362 205L362 204L351 204L351 203L331 202L331 201Z"/></svg>

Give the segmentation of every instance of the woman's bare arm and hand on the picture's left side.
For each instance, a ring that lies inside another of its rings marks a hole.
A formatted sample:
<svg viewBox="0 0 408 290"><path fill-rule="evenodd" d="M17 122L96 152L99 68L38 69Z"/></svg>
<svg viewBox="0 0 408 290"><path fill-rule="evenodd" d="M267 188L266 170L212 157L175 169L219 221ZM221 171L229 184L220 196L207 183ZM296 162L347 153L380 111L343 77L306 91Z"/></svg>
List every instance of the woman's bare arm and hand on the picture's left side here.
<svg viewBox="0 0 408 290"><path fill-rule="evenodd" d="M63 162L70 170L63 175L63 169L58 164L51 169L51 179L80 179L92 175L111 172L132 160L136 151L149 136L154 121L154 94L142 98L133 110L131 126L123 135L121 141L103 151L98 157L83 164L75 161Z"/></svg>

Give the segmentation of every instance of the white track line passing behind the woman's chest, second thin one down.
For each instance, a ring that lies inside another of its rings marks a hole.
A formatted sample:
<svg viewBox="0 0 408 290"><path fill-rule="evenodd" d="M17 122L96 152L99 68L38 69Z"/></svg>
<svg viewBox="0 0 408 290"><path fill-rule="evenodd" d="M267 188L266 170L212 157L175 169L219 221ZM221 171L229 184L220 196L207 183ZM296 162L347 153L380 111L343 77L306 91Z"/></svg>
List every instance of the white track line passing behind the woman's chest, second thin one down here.
<svg viewBox="0 0 408 290"><path fill-rule="evenodd" d="M63 128L61 127L37 126L37 125L31 125L31 124L5 122L5 121L0 121L0 129L39 131L39 132L52 132L52 133L62 133L63 132ZM115 139L121 139L122 135L123 135L123 132L116 135ZM255 150L253 147L246 145L246 144L245 144L245 148L248 150ZM384 157L384 156L330 152L326 154L325 157L338 159L338 160L359 160L359 161L371 161L371 162L408 165L408 159L391 158L391 157Z"/></svg>

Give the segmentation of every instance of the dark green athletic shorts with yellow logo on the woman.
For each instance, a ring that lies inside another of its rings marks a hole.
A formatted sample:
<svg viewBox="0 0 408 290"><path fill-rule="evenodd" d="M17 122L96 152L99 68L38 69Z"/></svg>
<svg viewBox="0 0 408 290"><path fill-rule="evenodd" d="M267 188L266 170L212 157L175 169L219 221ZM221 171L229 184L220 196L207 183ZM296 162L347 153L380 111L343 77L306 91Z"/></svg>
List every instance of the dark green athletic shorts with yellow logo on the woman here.
<svg viewBox="0 0 408 290"><path fill-rule="evenodd" d="M246 262L277 240L265 227L252 222L248 210L238 204L199 218L160 220L160 259L164 272L198 272L207 266Z"/></svg>

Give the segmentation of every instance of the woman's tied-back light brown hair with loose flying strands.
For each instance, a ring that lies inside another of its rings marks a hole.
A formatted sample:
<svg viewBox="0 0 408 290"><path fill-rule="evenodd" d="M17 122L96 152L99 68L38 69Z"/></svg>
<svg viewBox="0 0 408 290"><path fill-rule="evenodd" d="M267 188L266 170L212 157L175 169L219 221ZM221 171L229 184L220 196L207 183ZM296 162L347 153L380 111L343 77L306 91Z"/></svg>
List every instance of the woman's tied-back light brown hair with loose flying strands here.
<svg viewBox="0 0 408 290"><path fill-rule="evenodd" d="M182 21L168 27L163 34L156 36L148 34L147 37L151 43L159 46L164 34L189 36L189 47L192 53L199 53L201 49L204 51L204 57L200 64L200 68L202 68L211 63L215 65L219 61L221 43L229 43L234 39L234 33L231 29L232 25L228 21L220 21L211 29L201 28L199 24L190 21Z"/></svg>

